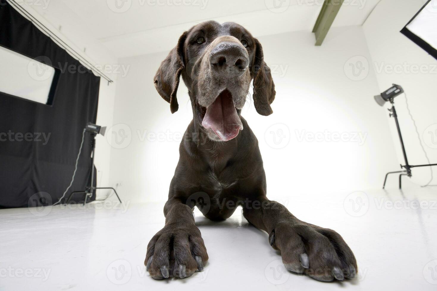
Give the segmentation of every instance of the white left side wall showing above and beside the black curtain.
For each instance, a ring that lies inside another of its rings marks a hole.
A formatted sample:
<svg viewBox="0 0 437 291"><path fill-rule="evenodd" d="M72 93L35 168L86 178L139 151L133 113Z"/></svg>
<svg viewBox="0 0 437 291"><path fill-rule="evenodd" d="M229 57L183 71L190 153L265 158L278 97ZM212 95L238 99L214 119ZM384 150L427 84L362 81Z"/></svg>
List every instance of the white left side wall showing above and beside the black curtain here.
<svg viewBox="0 0 437 291"><path fill-rule="evenodd" d="M61 1L21 1L19 3L57 37L80 53L83 58L93 65L102 67L105 74L114 80L114 83L108 85L108 82L101 78L97 110L97 124L111 126L116 81L118 77L124 75L118 68L117 58L90 34L89 29L82 24L80 17ZM107 66L106 69L105 66ZM80 140L77 142L80 143ZM98 186L115 186L115 183L109 180L111 148L107 139L97 137L95 165L98 171ZM98 192L97 195L104 196L106 192Z"/></svg>

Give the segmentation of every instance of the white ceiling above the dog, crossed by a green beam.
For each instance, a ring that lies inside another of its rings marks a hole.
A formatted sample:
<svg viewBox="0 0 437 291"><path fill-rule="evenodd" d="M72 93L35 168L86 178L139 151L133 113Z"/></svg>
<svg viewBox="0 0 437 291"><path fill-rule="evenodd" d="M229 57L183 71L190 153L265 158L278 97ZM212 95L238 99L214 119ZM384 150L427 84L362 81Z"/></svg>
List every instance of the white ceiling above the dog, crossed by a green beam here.
<svg viewBox="0 0 437 291"><path fill-rule="evenodd" d="M311 31L323 3L323 0L58 1L119 58L168 51L183 31L205 20L234 21L254 36ZM363 24L378 1L344 0L333 26ZM128 9L117 13L115 3L122 7L118 11ZM274 4L279 6L277 10Z"/></svg>

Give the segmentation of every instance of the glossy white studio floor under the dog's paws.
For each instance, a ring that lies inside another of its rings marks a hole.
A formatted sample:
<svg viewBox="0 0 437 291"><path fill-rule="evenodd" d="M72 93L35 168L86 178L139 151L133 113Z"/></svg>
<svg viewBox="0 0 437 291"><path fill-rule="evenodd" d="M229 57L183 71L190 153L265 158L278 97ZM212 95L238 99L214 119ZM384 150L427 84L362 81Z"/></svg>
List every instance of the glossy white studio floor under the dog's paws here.
<svg viewBox="0 0 437 291"><path fill-rule="evenodd" d="M267 234L240 209L220 223L196 210L209 262L192 277L166 281L143 265L164 224L163 203L0 210L0 290L436 290L436 199L437 187L407 183L403 191L277 199L299 219L335 229L354 251L358 277L335 283L284 271Z"/></svg>

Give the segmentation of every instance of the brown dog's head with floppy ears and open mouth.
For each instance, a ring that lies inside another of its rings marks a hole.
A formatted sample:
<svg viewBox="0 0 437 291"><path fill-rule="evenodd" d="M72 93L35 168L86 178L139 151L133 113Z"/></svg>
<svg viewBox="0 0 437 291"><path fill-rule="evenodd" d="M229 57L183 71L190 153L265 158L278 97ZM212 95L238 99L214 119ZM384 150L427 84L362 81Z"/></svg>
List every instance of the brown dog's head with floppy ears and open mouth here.
<svg viewBox="0 0 437 291"><path fill-rule="evenodd" d="M231 140L243 129L239 115L252 80L255 109L265 116L273 112L276 92L263 48L239 24L206 21L180 36L153 79L171 113L179 107L181 74L190 91L194 122L212 140Z"/></svg>

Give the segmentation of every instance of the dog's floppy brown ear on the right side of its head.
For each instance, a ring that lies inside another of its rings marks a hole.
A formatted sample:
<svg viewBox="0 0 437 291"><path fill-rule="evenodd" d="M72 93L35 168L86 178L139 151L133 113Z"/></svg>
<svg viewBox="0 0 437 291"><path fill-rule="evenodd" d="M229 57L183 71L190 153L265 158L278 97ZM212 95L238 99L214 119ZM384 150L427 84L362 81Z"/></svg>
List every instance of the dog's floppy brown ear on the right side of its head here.
<svg viewBox="0 0 437 291"><path fill-rule="evenodd" d="M255 44L254 61L250 71L253 78L253 104L259 114L267 116L273 113L270 104L274 100L276 91L270 68L264 62L263 47L256 38Z"/></svg>

